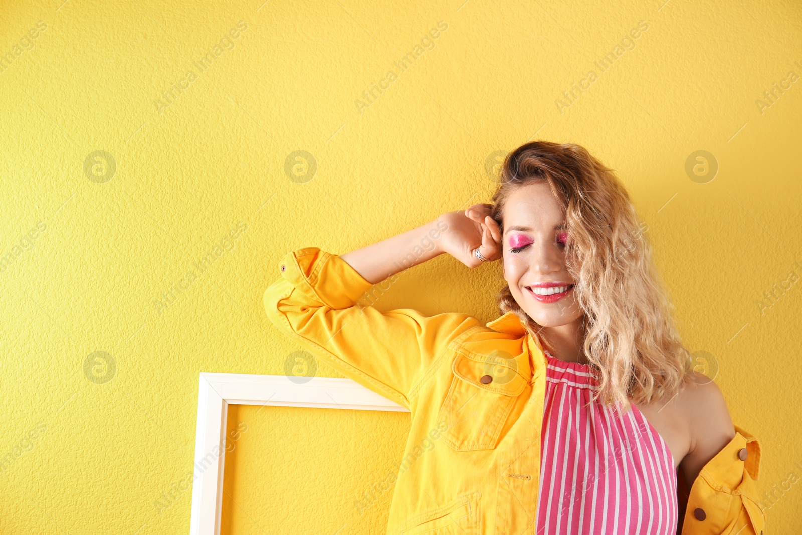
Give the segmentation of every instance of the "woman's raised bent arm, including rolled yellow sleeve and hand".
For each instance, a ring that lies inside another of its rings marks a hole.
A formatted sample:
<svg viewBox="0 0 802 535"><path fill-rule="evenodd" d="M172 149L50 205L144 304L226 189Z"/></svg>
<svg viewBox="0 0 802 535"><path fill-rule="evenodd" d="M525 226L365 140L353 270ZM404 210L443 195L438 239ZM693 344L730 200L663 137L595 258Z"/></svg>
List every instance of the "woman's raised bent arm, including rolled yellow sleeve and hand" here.
<svg viewBox="0 0 802 535"><path fill-rule="evenodd" d="M265 313L318 359L410 408L448 345L480 322L457 312L383 313L358 300L376 282L440 253L479 265L472 249L482 244L481 253L492 259L496 245L483 228L460 210L342 257L318 247L296 249L282 258L281 278L265 290Z"/></svg>

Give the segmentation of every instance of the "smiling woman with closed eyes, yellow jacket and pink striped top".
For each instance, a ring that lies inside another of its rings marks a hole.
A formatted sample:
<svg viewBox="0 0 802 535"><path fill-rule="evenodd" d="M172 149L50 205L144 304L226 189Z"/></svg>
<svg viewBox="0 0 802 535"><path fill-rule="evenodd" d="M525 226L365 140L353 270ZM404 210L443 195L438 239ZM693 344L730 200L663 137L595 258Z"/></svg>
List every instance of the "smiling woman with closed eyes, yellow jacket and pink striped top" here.
<svg viewBox="0 0 802 535"><path fill-rule="evenodd" d="M500 318L358 303L441 253L501 261ZM387 533L763 533L758 440L693 370L626 189L584 148L525 144L491 204L281 271L271 321L411 411Z"/></svg>

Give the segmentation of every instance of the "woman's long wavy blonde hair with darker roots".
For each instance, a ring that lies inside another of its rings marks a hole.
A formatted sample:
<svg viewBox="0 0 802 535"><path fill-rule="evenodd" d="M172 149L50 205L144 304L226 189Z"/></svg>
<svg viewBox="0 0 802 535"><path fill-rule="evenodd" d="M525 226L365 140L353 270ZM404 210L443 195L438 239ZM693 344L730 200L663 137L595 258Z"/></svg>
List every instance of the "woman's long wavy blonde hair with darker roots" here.
<svg viewBox="0 0 802 535"><path fill-rule="evenodd" d="M510 152L492 197L492 218L504 233L504 205L520 186L545 181L565 210L566 268L584 312L583 349L597 373L593 400L608 406L673 397L692 374L690 352L674 326L670 303L626 188L577 144L527 143ZM648 226L646 227L648 229ZM508 285L497 303L553 352L543 328L520 307Z"/></svg>

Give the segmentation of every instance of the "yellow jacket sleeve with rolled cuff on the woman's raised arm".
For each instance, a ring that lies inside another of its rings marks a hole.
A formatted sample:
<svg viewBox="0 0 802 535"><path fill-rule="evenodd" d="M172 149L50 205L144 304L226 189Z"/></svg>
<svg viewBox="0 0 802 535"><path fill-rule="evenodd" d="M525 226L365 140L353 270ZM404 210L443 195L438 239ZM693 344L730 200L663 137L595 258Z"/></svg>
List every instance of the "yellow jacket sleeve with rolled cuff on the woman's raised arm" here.
<svg viewBox="0 0 802 535"><path fill-rule="evenodd" d="M380 312L358 303L373 286L318 247L287 253L264 294L270 322L346 377L410 408L448 344L479 320L460 313Z"/></svg>

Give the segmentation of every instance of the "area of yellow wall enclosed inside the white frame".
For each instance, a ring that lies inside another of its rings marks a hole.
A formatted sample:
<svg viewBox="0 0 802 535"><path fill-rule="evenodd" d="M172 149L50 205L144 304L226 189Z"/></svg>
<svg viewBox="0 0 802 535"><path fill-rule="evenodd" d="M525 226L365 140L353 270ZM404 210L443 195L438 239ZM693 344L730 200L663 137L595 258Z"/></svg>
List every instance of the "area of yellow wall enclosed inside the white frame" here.
<svg viewBox="0 0 802 535"><path fill-rule="evenodd" d="M408 432L408 412L229 406L221 534L385 533Z"/></svg>

